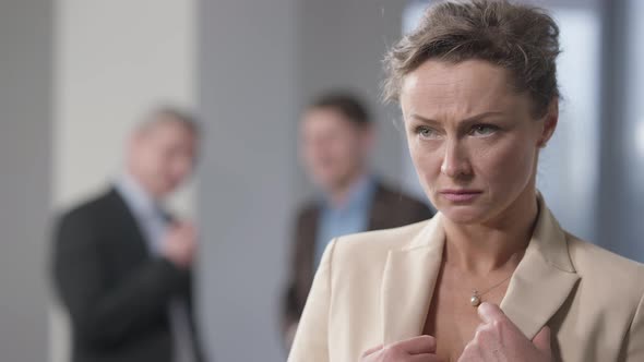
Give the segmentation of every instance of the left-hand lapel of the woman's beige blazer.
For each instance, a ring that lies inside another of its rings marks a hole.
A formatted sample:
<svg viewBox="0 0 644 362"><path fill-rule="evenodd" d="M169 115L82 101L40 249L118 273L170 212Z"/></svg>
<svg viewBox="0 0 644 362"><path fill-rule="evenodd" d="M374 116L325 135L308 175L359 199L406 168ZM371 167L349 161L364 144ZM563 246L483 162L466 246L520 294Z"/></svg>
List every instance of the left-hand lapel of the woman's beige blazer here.
<svg viewBox="0 0 644 362"><path fill-rule="evenodd" d="M444 239L440 217L434 217L407 248L389 252L381 294L383 343L422 333Z"/></svg>

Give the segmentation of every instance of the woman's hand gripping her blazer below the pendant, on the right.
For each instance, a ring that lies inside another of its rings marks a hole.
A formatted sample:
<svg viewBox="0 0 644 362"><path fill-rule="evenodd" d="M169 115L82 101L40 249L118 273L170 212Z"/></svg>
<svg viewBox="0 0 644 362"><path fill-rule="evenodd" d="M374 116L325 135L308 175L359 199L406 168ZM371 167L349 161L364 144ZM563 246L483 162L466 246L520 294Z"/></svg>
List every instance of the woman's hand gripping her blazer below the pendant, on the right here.
<svg viewBox="0 0 644 362"><path fill-rule="evenodd" d="M482 323L474 339L465 346L458 362L550 362L550 328L547 326L530 341L497 305L478 307Z"/></svg>

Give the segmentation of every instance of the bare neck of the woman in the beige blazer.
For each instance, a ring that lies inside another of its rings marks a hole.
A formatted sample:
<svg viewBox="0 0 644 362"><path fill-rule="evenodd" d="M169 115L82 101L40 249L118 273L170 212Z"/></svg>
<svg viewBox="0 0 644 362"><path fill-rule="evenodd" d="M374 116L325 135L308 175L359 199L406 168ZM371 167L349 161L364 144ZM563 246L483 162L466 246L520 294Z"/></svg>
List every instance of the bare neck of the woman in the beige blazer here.
<svg viewBox="0 0 644 362"><path fill-rule="evenodd" d="M477 225L445 220L445 263L461 270L487 275L518 265L533 234L538 215L534 188L528 188L511 207Z"/></svg>

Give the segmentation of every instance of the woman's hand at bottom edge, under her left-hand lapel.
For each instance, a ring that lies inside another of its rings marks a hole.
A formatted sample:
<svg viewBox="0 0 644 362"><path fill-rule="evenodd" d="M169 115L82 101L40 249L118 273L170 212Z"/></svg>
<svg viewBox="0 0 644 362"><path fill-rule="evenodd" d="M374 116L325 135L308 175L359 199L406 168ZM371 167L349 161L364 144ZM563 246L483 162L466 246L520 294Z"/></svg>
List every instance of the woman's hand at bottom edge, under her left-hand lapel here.
<svg viewBox="0 0 644 362"><path fill-rule="evenodd" d="M440 362L436 338L419 336L389 346L378 346L362 354L360 362Z"/></svg>

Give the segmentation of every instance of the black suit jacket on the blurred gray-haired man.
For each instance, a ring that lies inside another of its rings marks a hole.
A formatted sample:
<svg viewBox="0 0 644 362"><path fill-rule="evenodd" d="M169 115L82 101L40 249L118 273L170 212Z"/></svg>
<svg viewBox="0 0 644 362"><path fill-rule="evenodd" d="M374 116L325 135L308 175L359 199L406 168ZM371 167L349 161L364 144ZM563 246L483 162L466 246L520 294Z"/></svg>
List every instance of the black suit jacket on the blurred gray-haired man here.
<svg viewBox="0 0 644 362"><path fill-rule="evenodd" d="M71 317L73 362L170 362L172 298L186 301L195 331L191 273L153 257L143 238L114 189L60 218L52 274Z"/></svg>

